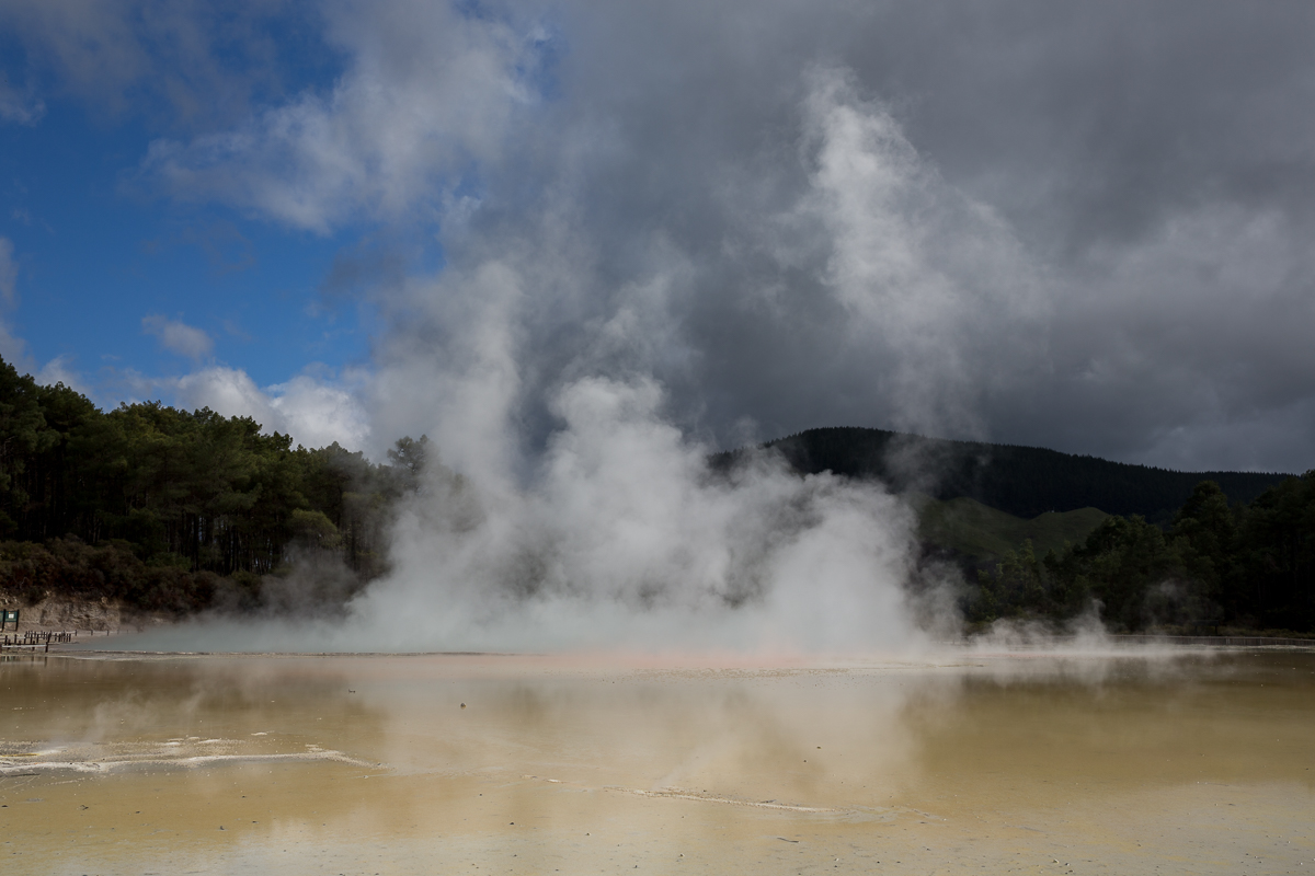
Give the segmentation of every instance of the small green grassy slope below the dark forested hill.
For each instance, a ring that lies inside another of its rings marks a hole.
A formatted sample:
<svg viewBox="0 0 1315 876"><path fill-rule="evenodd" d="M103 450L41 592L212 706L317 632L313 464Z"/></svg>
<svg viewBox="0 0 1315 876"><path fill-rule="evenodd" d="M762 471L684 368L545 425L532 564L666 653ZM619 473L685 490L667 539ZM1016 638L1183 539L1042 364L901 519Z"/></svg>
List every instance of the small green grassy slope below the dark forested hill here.
<svg viewBox="0 0 1315 876"><path fill-rule="evenodd" d="M1031 520L984 506L976 499L938 500L914 494L923 541L965 554L978 566L999 562L1006 550L1032 540L1038 557L1060 550L1065 541L1080 542L1109 515L1098 508L1047 511Z"/></svg>

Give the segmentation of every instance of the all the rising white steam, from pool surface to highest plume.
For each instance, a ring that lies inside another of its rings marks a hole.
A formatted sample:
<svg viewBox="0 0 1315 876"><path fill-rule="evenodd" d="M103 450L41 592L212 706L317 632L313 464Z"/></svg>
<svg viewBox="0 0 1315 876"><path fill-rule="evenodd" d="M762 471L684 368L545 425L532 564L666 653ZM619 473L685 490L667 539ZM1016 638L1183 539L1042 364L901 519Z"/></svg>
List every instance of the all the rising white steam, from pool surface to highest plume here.
<svg viewBox="0 0 1315 876"><path fill-rule="evenodd" d="M830 474L801 479L771 454L710 470L710 443L690 436L727 386L714 373L727 360L707 331L731 314L727 334L831 332L834 359L806 380L782 373L781 391L843 372L836 385L893 422L970 431L998 352L984 339L1007 336L981 327L1023 324L1036 284L1003 223L947 186L843 71L805 83L802 163L786 173L803 169L796 197L764 214L753 186L723 193L730 255L715 264L665 234L626 242L619 259L581 206L588 180L556 176L523 215L454 217L443 272L379 298L392 327L375 429L426 432L447 466L431 466L402 510L393 571L341 624L209 625L185 634L191 646L917 642L915 515L902 500ZM1026 362L1026 344L1009 343L1009 361ZM759 361L776 368L727 366Z"/></svg>

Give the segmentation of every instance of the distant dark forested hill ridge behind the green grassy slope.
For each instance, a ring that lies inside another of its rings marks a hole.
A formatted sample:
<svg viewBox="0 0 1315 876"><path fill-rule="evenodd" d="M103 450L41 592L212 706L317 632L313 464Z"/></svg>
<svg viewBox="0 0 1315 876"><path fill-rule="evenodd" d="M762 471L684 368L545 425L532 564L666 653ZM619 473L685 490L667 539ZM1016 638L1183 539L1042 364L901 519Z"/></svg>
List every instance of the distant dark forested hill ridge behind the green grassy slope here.
<svg viewBox="0 0 1315 876"><path fill-rule="evenodd" d="M968 496L1023 519L1045 511L1099 508L1173 516L1201 481L1214 481L1232 502L1251 502L1287 474L1170 471L1032 447L951 441L869 428L819 428L769 441L801 474L831 470L876 478L897 493L920 490L938 499ZM734 464L743 450L715 457Z"/></svg>

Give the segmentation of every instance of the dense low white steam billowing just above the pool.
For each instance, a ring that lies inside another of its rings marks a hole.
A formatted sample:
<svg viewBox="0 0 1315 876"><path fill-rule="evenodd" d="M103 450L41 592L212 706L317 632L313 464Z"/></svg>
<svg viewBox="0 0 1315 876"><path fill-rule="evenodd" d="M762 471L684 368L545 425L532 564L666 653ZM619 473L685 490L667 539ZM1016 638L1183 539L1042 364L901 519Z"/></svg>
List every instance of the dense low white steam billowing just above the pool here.
<svg viewBox="0 0 1315 876"><path fill-rule="evenodd" d="M910 642L911 515L831 475L730 479L646 378L583 378L527 490L435 485L355 605L394 647L873 649ZM398 623L423 619L423 625Z"/></svg>

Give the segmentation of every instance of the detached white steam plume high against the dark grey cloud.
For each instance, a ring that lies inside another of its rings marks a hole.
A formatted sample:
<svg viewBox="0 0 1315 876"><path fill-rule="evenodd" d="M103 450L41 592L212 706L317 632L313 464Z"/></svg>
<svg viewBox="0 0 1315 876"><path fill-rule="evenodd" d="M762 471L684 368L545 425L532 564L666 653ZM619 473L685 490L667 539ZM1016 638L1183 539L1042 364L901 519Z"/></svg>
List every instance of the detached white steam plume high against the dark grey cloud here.
<svg viewBox="0 0 1315 876"><path fill-rule="evenodd" d="M843 70L803 102L810 190L796 218L825 231L822 278L852 341L877 347L889 420L981 433L980 398L1041 361L1038 268L989 206L947 185Z"/></svg>

